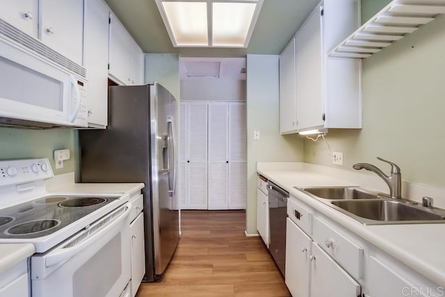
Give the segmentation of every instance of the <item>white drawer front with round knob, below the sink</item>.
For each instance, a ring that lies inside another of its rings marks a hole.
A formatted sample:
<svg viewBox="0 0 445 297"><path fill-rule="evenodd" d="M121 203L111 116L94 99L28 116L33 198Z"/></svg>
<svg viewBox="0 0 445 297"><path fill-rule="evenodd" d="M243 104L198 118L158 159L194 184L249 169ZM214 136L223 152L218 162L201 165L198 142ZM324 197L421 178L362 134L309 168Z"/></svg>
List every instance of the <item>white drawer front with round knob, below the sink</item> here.
<svg viewBox="0 0 445 297"><path fill-rule="evenodd" d="M312 238L356 280L362 278L363 249L332 229L323 220L314 218Z"/></svg>

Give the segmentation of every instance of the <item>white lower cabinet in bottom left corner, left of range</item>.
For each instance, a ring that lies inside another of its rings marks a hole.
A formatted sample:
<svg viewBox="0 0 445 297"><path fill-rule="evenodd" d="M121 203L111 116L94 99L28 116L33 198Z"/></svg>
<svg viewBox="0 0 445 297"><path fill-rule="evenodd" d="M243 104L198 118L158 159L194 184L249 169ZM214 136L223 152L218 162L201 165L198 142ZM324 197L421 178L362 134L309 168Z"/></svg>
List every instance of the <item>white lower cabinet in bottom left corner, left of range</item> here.
<svg viewBox="0 0 445 297"><path fill-rule="evenodd" d="M28 297L28 265L26 259L0 273L0 297Z"/></svg>

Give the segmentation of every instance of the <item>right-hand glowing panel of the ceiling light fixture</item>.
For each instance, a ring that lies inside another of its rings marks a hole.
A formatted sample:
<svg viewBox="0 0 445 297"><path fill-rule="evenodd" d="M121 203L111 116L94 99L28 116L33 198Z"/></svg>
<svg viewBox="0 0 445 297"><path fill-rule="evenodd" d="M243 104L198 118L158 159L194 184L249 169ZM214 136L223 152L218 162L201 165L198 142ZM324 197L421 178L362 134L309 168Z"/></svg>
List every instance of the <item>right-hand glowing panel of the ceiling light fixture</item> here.
<svg viewBox="0 0 445 297"><path fill-rule="evenodd" d="M214 47L243 47L257 3L213 3Z"/></svg>

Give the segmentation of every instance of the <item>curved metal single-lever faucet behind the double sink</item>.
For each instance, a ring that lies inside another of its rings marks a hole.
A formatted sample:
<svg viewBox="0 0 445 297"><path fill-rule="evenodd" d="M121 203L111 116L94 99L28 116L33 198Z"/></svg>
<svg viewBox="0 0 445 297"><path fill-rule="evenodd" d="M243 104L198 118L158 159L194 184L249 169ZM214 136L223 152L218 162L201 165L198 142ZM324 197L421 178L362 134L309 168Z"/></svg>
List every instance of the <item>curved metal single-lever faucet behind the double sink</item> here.
<svg viewBox="0 0 445 297"><path fill-rule="evenodd" d="M386 163L389 163L391 165L391 175L385 175L385 173L382 172L379 168L373 166L369 163L357 163L353 165L353 168L356 170L360 169L366 169L369 171L374 172L379 177L382 177L382 179L387 183L389 186L389 195L393 199L402 199L402 179L401 179L401 168L398 167L396 164L384 160L380 157L377 157L380 161L384 161Z"/></svg>

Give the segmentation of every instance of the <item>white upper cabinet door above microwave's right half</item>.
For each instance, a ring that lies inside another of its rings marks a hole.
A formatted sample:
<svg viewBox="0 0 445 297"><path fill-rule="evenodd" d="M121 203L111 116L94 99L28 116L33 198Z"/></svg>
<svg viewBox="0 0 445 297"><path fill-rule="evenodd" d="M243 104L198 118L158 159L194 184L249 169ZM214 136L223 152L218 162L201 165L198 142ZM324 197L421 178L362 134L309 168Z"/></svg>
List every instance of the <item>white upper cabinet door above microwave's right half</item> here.
<svg viewBox="0 0 445 297"><path fill-rule="evenodd" d="M40 0L40 40L83 63L83 0Z"/></svg>

